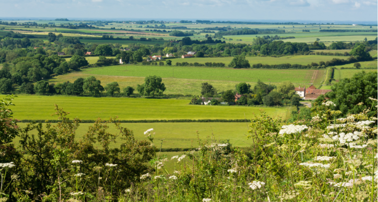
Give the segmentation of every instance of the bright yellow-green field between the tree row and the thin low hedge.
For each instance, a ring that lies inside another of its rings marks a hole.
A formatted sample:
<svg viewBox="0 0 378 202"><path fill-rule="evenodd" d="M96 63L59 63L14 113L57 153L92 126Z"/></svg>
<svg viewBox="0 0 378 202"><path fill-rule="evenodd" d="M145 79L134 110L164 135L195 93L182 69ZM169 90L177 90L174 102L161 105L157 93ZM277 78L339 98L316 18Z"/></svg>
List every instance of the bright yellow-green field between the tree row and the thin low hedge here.
<svg viewBox="0 0 378 202"><path fill-rule="evenodd" d="M147 99L127 97L79 97L19 95L12 106L15 118L21 120L55 119L54 104L70 112L70 118L83 120L108 119L118 116L121 120L166 119L247 119L258 114L260 108L245 106L188 105L187 99ZM264 108L272 116L286 116L287 108ZM17 115L17 116L16 116Z"/></svg>

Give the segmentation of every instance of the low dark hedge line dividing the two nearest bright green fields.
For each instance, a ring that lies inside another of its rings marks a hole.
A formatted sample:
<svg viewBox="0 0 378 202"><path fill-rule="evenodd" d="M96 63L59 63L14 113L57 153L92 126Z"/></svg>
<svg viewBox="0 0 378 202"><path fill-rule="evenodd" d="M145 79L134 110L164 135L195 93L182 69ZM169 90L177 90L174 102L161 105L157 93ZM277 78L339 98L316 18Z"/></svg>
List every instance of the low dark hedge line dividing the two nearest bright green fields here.
<svg viewBox="0 0 378 202"><path fill-rule="evenodd" d="M172 120L118 120L119 123L206 123L206 122L234 122L241 123L251 119L172 119ZM80 120L80 123L95 123L97 120ZM105 122L106 120L103 120ZM18 123L61 123L62 120L19 120ZM69 122L72 122L70 120Z"/></svg>

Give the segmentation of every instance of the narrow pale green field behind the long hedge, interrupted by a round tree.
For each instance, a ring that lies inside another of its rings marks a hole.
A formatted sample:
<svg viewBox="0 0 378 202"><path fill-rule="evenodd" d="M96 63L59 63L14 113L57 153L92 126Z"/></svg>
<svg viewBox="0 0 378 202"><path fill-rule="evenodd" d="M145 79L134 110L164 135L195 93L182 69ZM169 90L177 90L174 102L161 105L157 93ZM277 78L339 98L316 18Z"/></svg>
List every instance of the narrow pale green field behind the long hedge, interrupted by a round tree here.
<svg viewBox="0 0 378 202"><path fill-rule="evenodd" d="M308 56L284 56L280 58L273 58L273 57L246 57L249 64L252 66L253 64L266 64L266 65L278 65L278 64L299 64L299 65L308 65L312 62L319 63L320 61L329 61L333 58L339 59L347 59L346 56L317 56L317 55L308 55ZM175 65L176 62L182 63L201 63L205 64L206 62L212 63L224 63L226 65L230 64L230 62L234 59L234 57L225 57L225 58L176 58L172 59L172 65Z"/></svg>

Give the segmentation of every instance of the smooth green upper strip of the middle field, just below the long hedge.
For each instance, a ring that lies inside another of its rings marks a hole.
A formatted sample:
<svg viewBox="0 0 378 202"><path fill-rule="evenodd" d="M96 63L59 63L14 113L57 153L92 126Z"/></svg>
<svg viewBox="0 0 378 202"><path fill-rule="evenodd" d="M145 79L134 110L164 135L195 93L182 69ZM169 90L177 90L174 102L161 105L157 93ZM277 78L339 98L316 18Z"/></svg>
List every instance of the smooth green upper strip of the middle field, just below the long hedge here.
<svg viewBox="0 0 378 202"><path fill-rule="evenodd" d="M291 81L293 83L320 83L324 70L277 70L277 69L229 69L177 66L136 66L118 65L83 70L85 74L106 76L160 76L162 78L182 78L199 80L257 82L266 83Z"/></svg>

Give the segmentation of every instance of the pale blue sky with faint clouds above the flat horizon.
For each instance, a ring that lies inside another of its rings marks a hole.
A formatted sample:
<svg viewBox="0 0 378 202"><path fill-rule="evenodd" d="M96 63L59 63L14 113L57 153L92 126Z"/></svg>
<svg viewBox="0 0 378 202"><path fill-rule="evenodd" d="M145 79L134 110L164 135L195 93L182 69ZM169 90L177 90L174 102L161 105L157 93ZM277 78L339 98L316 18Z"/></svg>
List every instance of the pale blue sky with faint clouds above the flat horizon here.
<svg viewBox="0 0 378 202"><path fill-rule="evenodd" d="M0 5L0 19L377 21L376 0L0 0Z"/></svg>

